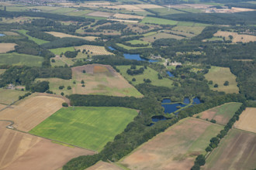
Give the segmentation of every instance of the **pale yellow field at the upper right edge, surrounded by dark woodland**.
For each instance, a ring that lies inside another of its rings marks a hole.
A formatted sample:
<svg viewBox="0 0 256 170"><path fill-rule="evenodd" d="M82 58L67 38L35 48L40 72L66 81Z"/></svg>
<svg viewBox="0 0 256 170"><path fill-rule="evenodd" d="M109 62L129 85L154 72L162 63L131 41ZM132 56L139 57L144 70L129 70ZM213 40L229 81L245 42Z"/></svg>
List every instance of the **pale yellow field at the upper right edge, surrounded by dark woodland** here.
<svg viewBox="0 0 256 170"><path fill-rule="evenodd" d="M233 36L232 42L254 42L254 41L256 41L256 36L237 34L237 32L218 31L213 36L222 36L222 37L226 37L226 39L229 39L229 36Z"/></svg>

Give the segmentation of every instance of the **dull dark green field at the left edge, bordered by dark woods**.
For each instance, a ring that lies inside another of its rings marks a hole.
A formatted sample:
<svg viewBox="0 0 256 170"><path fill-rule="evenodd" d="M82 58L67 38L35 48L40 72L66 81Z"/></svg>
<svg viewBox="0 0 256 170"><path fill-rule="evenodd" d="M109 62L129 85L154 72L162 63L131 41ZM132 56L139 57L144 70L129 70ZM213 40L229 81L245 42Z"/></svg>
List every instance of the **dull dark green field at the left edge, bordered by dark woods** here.
<svg viewBox="0 0 256 170"><path fill-rule="evenodd" d="M0 65L15 65L15 66L41 66L43 62L42 56L32 56L19 53L4 53L0 54Z"/></svg>

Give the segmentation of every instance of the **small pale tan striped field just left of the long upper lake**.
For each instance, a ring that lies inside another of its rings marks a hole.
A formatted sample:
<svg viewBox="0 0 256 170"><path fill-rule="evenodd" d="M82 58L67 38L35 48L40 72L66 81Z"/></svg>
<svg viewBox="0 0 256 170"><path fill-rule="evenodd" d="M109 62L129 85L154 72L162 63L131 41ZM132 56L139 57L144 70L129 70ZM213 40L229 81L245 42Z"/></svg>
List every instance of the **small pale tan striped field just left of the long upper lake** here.
<svg viewBox="0 0 256 170"><path fill-rule="evenodd" d="M75 46L74 49L80 49L81 52L85 49L88 54L90 55L112 55L112 53L108 52L104 46L91 46L91 45L84 45L84 46ZM87 55L86 55L87 56Z"/></svg>

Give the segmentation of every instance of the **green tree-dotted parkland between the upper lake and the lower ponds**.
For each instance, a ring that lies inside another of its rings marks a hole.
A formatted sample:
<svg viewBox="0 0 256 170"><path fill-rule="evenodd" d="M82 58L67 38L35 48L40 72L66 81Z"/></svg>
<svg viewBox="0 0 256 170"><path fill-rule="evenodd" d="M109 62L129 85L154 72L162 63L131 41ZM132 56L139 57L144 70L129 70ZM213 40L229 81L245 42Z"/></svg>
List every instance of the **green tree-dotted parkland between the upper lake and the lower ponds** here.
<svg viewBox="0 0 256 170"><path fill-rule="evenodd" d="M158 79L157 76L157 71L151 69L150 67L147 66L147 69L144 70L143 74L139 74L136 76L130 76L129 74L126 73L127 69L130 69L130 66L116 66L119 70L120 73L126 78L126 80L130 81L133 83L133 85L137 85L139 83L144 83L144 79L150 79L152 82L151 84L154 86L158 87L172 87L172 80L168 78L163 78L162 80ZM142 66L137 66L137 69L140 69ZM132 81L132 79L135 78L136 81Z"/></svg>

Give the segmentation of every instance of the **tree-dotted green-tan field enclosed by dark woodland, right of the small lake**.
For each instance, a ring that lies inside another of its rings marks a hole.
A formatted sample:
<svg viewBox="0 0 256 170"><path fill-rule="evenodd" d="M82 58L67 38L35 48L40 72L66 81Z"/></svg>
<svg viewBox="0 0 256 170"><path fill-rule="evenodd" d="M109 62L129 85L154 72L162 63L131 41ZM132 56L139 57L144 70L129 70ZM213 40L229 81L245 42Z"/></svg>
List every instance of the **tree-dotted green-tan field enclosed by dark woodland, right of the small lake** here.
<svg viewBox="0 0 256 170"><path fill-rule="evenodd" d="M209 73L205 75L206 80L212 80L213 85L218 84L218 87L210 86L212 90L224 91L225 93L238 93L239 89L237 87L236 76L230 72L230 68L212 66ZM225 81L229 82L229 86L224 86Z"/></svg>

